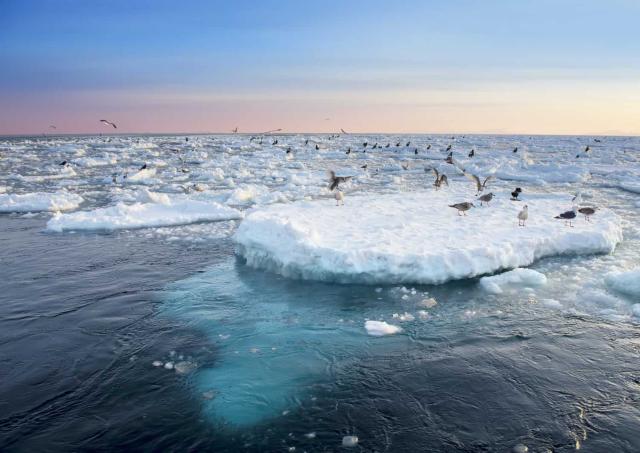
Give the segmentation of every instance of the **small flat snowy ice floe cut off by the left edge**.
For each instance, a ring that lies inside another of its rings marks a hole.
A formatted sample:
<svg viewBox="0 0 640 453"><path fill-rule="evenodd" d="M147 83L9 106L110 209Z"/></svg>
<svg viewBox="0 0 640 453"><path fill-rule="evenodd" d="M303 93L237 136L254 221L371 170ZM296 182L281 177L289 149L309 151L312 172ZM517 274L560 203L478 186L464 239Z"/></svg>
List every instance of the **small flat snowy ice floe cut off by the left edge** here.
<svg viewBox="0 0 640 453"><path fill-rule="evenodd" d="M0 212L68 211L84 200L69 192L0 194Z"/></svg>

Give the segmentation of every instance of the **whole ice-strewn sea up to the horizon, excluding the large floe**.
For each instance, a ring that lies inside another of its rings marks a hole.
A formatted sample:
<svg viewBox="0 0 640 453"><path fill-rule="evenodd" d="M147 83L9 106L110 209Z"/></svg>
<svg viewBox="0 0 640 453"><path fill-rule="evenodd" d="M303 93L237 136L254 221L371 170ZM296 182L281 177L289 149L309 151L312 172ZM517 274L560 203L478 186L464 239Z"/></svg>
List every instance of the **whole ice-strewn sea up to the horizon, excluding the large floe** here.
<svg viewBox="0 0 640 453"><path fill-rule="evenodd" d="M497 187L582 192L624 240L540 260L547 285L502 294L478 279L336 284L247 266L241 220L132 229L129 213L119 229L54 232L52 212L5 197L0 449L339 451L346 435L353 451L640 449L640 300L604 279L640 267L640 139L188 138L1 139L0 192L81 196L70 211L151 193L248 212L328 196L329 168L355 175L349 193L430 187L424 167L453 144ZM120 179L145 163L155 174ZM367 319L402 332L369 336Z"/></svg>

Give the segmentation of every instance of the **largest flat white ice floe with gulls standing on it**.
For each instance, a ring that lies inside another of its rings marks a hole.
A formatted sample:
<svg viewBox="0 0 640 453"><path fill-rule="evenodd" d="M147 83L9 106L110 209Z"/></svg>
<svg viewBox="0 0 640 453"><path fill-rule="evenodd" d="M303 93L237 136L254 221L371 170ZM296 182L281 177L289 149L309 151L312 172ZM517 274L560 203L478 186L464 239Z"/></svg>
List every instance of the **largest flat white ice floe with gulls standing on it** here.
<svg viewBox="0 0 640 453"><path fill-rule="evenodd" d="M496 192L490 206L469 191L440 190L272 205L250 213L235 240L254 267L284 276L339 282L438 284L528 266L554 255L610 253L622 240L607 209L574 227L554 217L571 196L527 199L529 220L519 227L521 202ZM460 216L453 203L475 201Z"/></svg>

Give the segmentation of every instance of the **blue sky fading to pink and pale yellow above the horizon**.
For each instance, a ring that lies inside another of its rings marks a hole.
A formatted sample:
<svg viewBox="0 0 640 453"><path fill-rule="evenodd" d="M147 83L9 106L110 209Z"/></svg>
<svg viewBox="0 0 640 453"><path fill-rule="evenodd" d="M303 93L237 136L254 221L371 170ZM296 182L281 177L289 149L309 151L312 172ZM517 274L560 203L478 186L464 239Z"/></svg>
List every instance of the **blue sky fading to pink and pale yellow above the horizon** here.
<svg viewBox="0 0 640 453"><path fill-rule="evenodd" d="M640 134L636 0L0 0L0 134Z"/></svg>

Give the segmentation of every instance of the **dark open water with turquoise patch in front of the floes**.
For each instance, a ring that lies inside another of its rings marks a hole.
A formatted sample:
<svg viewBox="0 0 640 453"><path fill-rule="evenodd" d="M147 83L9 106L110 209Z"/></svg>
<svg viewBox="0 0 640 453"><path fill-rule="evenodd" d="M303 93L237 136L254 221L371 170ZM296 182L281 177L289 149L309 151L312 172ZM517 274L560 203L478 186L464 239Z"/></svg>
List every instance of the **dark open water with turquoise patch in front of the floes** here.
<svg viewBox="0 0 640 453"><path fill-rule="evenodd" d="M397 289L45 218L0 216L2 451L640 450L632 324L489 306L464 282L417 288L430 318L372 338L365 317L404 312ZM151 365L178 355L197 367Z"/></svg>

